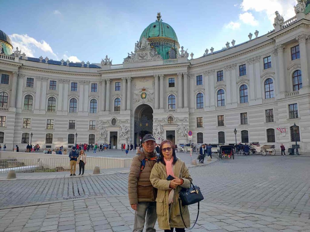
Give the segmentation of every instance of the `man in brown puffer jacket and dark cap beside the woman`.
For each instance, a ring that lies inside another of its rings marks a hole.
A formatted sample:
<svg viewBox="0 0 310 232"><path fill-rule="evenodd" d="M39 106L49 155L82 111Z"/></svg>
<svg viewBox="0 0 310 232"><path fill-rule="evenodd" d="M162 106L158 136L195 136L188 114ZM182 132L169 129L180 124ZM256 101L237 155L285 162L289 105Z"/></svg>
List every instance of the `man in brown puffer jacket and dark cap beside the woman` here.
<svg viewBox="0 0 310 232"><path fill-rule="evenodd" d="M133 232L142 232L146 216L146 232L155 232L156 189L150 182L150 174L157 161L155 138L148 134L143 137L142 146L137 149L137 155L132 159L128 176L128 196L131 208L135 210ZM143 160L145 165L142 167ZM142 171L141 171L142 170Z"/></svg>

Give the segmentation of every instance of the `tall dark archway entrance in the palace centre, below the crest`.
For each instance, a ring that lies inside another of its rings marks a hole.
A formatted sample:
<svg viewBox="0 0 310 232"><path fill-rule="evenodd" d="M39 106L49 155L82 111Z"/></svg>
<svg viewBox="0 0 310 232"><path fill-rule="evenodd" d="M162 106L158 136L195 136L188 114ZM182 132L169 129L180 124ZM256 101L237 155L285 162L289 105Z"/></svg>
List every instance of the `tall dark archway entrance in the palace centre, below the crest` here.
<svg viewBox="0 0 310 232"><path fill-rule="evenodd" d="M149 105L139 105L135 110L135 146L140 144L140 138L153 133L153 109Z"/></svg>

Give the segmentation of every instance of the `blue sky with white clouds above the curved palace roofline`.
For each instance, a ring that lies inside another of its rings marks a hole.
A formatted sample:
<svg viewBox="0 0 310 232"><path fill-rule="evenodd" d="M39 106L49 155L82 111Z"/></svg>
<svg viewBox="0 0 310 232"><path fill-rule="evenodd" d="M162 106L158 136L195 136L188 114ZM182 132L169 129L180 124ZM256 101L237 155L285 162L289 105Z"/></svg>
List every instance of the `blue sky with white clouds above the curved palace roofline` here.
<svg viewBox="0 0 310 232"><path fill-rule="evenodd" d="M226 1L7 1L0 0L1 30L14 49L27 56L100 63L108 55L122 63L135 41L161 12L179 44L203 55L206 48L222 49L233 39L236 45L273 29L277 10L287 20L294 16L296 0ZM19 14L19 16L17 16ZM6 20L3 20L6 19Z"/></svg>

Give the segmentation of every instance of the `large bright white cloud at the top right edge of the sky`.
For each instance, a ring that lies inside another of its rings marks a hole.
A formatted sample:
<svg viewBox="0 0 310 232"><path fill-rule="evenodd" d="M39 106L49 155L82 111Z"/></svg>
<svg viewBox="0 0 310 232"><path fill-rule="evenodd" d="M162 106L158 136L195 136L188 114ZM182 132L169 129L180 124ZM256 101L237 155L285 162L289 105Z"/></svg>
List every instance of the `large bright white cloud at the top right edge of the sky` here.
<svg viewBox="0 0 310 232"><path fill-rule="evenodd" d="M294 5L296 0L243 0L241 3L241 9L243 11L256 11L265 12L268 19L273 23L275 17L275 11L279 11L283 15L284 19L290 19L295 15Z"/></svg>

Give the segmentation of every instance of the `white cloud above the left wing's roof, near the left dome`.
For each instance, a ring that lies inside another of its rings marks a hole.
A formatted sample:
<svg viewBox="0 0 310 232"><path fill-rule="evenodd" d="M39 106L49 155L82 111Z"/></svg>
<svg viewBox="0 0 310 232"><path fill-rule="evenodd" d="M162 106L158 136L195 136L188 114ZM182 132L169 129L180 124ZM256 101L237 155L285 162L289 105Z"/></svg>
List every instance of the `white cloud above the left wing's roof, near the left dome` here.
<svg viewBox="0 0 310 232"><path fill-rule="evenodd" d="M28 36L27 34L19 35L12 34L10 35L13 47L18 47L22 52L26 54L26 56L34 57L34 53L36 49L42 50L43 52L47 52L52 54L55 58L57 55L53 52L51 46L44 40L37 41L33 37Z"/></svg>

